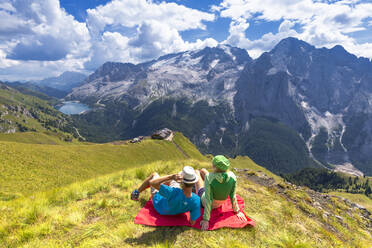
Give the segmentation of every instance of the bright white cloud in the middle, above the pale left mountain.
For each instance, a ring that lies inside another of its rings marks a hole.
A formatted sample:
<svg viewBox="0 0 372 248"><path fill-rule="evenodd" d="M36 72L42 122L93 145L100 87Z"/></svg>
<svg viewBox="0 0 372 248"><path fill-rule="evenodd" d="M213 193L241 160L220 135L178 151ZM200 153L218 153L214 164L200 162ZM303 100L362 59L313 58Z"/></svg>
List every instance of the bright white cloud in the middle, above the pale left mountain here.
<svg viewBox="0 0 372 248"><path fill-rule="evenodd" d="M86 63L89 69L98 67L104 61L138 63L167 53L217 44L212 38L192 43L184 41L181 31L205 29L204 22L213 21L215 16L176 3L114 0L87 12L88 28L93 37L91 60ZM132 29L134 33L117 33L116 41L108 42L105 34L120 29ZM126 42L119 44L118 39L125 39ZM102 51L112 49L116 52L102 55Z"/></svg>

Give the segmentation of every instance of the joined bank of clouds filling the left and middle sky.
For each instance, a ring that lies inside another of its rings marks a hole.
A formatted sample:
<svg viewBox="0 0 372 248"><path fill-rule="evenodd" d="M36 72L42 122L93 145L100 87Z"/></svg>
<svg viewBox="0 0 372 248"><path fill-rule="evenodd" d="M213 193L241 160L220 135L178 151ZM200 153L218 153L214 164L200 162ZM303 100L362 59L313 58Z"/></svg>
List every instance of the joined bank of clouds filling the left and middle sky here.
<svg viewBox="0 0 372 248"><path fill-rule="evenodd" d="M177 3L113 0L78 22L58 0L0 0L0 76L54 76L72 65L92 71L106 61L139 63L216 46L213 38L188 42L180 35L214 20L213 13Z"/></svg>

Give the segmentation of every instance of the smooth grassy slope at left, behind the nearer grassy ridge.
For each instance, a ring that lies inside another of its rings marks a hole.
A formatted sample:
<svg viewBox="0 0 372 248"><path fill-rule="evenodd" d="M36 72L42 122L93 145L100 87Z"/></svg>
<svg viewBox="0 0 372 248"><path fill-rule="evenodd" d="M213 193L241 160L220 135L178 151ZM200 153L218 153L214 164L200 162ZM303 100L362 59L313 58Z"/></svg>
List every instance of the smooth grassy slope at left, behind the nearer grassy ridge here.
<svg viewBox="0 0 372 248"><path fill-rule="evenodd" d="M150 139L120 145L48 145L0 141L0 193L29 194L154 161L202 157L194 146L189 146L189 141L183 135L176 134L176 137L179 146L188 146L189 149L182 152L171 141ZM22 139L21 134L16 140L19 139ZM40 139L48 140L46 137ZM23 141L27 141L27 137L23 137Z"/></svg>

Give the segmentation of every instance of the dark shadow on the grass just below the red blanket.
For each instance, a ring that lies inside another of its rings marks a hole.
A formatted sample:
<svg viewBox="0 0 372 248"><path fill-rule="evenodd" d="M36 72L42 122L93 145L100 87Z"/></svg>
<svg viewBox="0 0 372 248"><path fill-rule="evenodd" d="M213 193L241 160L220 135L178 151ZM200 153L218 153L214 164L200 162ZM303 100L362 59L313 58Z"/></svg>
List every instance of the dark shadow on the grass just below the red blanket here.
<svg viewBox="0 0 372 248"><path fill-rule="evenodd" d="M177 236L189 227L156 227L153 231L143 233L137 238L127 238L125 242L130 245L146 245L151 246L168 242L173 244L177 240Z"/></svg>

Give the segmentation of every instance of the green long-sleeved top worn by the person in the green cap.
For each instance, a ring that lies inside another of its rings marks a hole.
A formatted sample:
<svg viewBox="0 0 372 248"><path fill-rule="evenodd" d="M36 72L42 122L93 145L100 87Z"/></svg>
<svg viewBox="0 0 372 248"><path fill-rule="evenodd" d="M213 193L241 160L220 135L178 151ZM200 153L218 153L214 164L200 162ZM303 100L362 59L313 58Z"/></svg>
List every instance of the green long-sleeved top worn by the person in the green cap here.
<svg viewBox="0 0 372 248"><path fill-rule="evenodd" d="M208 173L204 184L205 193L202 195L204 220L209 221L213 200L226 200L228 196L230 196L234 212L239 212L239 206L236 200L236 176L232 171Z"/></svg>

